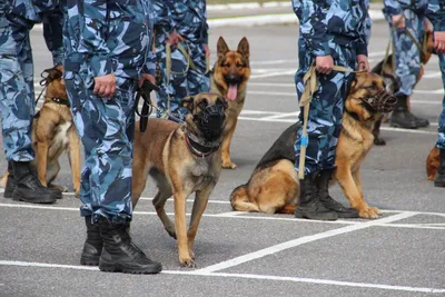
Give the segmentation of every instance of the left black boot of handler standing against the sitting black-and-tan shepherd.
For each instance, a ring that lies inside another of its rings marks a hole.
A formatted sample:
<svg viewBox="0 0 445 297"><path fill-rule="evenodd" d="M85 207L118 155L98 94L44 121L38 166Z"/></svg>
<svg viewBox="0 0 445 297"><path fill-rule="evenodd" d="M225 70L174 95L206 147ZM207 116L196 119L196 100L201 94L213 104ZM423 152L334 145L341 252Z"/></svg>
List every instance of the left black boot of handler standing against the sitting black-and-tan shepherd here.
<svg viewBox="0 0 445 297"><path fill-rule="evenodd" d="M299 200L295 209L296 218L307 218L317 220L336 220L337 214L327 209L319 200L316 185L318 174L312 174L299 180Z"/></svg>

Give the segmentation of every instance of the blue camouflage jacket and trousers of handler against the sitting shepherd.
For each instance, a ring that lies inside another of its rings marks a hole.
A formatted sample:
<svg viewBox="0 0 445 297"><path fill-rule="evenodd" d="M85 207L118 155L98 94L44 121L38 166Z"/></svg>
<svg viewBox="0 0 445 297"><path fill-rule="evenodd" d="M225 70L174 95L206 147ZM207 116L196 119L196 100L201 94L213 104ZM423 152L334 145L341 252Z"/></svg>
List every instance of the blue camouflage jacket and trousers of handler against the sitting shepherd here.
<svg viewBox="0 0 445 297"><path fill-rule="evenodd" d="M299 68L295 75L298 98L304 92L303 78L317 56L330 55L334 65L356 69L357 55L367 55L364 1L293 1L300 22L298 40ZM319 75L318 90L309 107L305 175L335 168L335 150L342 130L344 99L350 73L333 71ZM303 121L303 111L300 120ZM294 145L298 171L301 132Z"/></svg>

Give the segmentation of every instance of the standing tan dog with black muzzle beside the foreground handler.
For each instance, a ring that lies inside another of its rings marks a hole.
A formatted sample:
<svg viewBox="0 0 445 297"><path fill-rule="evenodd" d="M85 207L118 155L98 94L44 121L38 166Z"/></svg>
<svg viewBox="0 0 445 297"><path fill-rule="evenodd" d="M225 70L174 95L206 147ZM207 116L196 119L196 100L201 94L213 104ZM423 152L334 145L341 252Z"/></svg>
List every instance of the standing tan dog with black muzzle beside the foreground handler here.
<svg viewBox="0 0 445 297"><path fill-rule="evenodd" d="M152 202L167 232L178 240L179 263L196 267L192 247L202 212L221 171L220 143L228 105L219 95L199 93L182 99L181 106L190 111L184 125L149 119L146 132L136 129L132 205L138 202L150 175L158 187ZM192 192L196 195L187 231L186 200ZM164 209L171 196L175 225Z"/></svg>

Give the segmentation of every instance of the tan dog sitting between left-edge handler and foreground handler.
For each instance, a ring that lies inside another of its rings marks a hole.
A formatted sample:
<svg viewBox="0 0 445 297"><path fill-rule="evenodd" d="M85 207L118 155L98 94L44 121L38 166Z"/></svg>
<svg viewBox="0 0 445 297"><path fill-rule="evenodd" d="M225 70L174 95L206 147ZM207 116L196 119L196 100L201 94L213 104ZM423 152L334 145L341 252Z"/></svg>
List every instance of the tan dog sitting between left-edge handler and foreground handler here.
<svg viewBox="0 0 445 297"><path fill-rule="evenodd" d="M32 148L36 158L31 167L37 170L39 181L47 187L68 191L67 187L53 185L60 171L59 157L68 152L71 166L72 184L76 196L80 190L80 140L72 121L70 103L58 68L43 70L42 82L46 86L44 102L32 120ZM7 172L0 179L0 186L6 187Z"/></svg>

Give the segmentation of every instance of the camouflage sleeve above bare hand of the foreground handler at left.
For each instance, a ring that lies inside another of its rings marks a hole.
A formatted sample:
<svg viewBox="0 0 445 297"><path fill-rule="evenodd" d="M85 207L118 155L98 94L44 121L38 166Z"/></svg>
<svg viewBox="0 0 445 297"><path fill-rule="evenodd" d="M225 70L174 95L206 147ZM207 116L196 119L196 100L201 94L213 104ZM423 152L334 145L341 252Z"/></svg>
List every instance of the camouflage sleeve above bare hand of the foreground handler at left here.
<svg viewBox="0 0 445 297"><path fill-rule="evenodd" d="M71 1L72 2L72 1ZM108 59L110 50L107 47L107 11L108 0L77 0L80 28L79 52L90 52L90 66L95 77L112 73L112 62Z"/></svg>

